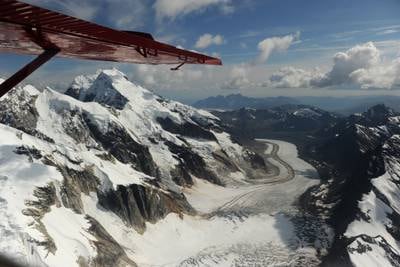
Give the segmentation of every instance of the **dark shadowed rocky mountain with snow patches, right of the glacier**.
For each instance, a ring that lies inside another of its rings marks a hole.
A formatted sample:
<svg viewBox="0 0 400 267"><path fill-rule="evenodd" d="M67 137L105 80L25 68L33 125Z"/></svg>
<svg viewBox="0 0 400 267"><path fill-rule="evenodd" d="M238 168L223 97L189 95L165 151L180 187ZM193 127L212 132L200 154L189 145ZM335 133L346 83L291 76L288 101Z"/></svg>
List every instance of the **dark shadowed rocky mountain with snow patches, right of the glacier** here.
<svg viewBox="0 0 400 267"><path fill-rule="evenodd" d="M323 266L399 266L398 114L377 105L323 129L313 158L330 180L309 208L325 216L335 241Z"/></svg>

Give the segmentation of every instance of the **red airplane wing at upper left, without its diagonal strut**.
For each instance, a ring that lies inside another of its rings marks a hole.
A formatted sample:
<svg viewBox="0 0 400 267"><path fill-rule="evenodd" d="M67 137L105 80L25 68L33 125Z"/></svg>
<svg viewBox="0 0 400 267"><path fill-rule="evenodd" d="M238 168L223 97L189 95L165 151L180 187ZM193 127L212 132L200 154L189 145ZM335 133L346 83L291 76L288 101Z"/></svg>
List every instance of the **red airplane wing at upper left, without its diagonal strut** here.
<svg viewBox="0 0 400 267"><path fill-rule="evenodd" d="M15 0L0 0L0 51L144 64L211 64L217 58L157 42Z"/></svg>

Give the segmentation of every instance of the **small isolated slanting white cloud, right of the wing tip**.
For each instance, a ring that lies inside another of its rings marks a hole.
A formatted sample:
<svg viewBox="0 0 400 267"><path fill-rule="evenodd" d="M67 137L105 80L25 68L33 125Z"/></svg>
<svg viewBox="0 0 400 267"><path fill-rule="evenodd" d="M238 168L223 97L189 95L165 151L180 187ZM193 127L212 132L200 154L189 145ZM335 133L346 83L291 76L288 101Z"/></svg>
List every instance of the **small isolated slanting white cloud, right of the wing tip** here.
<svg viewBox="0 0 400 267"><path fill-rule="evenodd" d="M273 52L286 51L294 41L300 38L300 32L283 37L270 37L258 43L260 54L256 63L265 63Z"/></svg>

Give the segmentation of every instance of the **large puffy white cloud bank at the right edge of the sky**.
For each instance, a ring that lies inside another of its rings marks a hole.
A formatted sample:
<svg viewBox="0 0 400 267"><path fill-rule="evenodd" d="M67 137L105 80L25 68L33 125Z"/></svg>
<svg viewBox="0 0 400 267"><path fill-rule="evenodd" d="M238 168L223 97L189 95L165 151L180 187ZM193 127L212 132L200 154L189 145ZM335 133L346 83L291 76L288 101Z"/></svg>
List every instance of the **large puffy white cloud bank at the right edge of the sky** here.
<svg viewBox="0 0 400 267"><path fill-rule="evenodd" d="M277 88L341 87L393 89L400 87L400 58L385 61L372 42L356 45L333 56L330 71L307 71L286 67L265 83Z"/></svg>

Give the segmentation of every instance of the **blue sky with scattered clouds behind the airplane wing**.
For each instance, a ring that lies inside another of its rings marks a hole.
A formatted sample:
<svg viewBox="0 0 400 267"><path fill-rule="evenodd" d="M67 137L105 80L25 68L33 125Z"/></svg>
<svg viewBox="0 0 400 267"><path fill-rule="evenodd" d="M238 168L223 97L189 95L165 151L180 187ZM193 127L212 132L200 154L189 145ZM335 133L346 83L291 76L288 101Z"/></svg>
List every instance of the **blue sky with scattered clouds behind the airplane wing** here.
<svg viewBox="0 0 400 267"><path fill-rule="evenodd" d="M161 95L398 94L398 0L29 0L39 6L222 57L223 67L57 59L30 82L65 88L74 76L118 67ZM372 42L372 43L368 43ZM343 53L340 54L340 53ZM7 76L29 57L0 54ZM383 77L383 78L382 78Z"/></svg>

